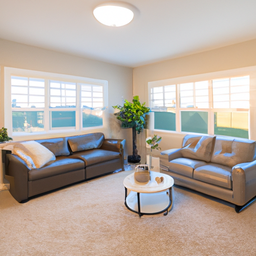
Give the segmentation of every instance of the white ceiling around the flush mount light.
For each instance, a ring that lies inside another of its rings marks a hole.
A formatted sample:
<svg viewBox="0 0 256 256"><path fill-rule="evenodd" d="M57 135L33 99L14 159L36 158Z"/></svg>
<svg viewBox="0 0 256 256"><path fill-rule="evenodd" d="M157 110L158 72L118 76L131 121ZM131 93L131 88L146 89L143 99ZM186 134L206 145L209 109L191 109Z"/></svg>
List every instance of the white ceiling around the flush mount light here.
<svg viewBox="0 0 256 256"><path fill-rule="evenodd" d="M0 0L0 38L136 67L256 38L256 0L126 0L122 27L92 15L101 0Z"/></svg>

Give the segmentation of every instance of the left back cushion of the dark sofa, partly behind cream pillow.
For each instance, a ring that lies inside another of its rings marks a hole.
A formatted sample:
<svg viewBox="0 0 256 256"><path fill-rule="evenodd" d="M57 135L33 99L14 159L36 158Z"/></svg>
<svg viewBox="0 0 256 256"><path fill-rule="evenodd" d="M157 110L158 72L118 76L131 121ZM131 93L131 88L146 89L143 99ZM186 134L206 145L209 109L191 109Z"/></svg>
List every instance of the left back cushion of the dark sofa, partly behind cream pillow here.
<svg viewBox="0 0 256 256"><path fill-rule="evenodd" d="M35 141L48 148L55 156L70 154L66 137L38 139Z"/></svg>

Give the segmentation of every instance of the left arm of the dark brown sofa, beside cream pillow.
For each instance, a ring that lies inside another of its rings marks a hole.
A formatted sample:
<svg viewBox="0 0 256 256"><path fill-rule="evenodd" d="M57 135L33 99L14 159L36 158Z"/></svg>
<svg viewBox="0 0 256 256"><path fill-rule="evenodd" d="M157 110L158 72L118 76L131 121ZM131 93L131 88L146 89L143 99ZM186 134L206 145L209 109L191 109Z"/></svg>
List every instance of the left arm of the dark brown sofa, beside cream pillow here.
<svg viewBox="0 0 256 256"><path fill-rule="evenodd" d="M14 154L6 154L4 177L9 181L10 194L18 202L27 200L28 198L28 170L21 158Z"/></svg>

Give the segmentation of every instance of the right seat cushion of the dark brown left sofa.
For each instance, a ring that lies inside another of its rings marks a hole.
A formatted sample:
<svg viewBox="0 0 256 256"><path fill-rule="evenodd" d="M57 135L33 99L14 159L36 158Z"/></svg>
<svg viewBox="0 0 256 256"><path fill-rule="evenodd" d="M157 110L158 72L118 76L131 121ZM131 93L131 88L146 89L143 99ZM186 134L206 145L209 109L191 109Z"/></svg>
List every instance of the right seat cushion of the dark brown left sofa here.
<svg viewBox="0 0 256 256"><path fill-rule="evenodd" d="M85 166L89 166L94 163L116 159L120 157L120 154L104 149L90 149L73 153L71 157L81 159L85 162Z"/></svg>

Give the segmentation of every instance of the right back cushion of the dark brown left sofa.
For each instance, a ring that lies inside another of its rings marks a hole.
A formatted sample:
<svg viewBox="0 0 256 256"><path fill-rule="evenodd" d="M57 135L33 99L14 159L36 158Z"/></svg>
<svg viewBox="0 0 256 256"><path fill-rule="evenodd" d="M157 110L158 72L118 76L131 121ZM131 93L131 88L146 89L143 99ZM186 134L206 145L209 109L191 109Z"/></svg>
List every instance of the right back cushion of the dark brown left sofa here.
<svg viewBox="0 0 256 256"><path fill-rule="evenodd" d="M104 134L101 132L78 135L68 138L68 144L72 152L99 148L104 140Z"/></svg>

